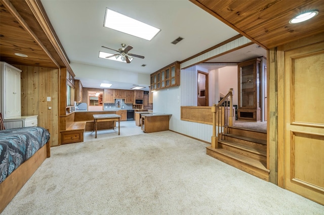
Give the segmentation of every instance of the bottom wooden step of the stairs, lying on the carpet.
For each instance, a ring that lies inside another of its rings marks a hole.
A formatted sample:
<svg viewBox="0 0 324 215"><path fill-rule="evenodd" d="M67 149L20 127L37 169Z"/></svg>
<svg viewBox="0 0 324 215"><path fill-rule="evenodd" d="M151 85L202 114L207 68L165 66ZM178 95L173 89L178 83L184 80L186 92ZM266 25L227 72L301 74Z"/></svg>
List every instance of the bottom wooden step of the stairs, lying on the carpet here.
<svg viewBox="0 0 324 215"><path fill-rule="evenodd" d="M254 175L265 181L269 181L269 170L266 165L258 160L237 154L221 148L207 147L207 154L221 160L222 162Z"/></svg>

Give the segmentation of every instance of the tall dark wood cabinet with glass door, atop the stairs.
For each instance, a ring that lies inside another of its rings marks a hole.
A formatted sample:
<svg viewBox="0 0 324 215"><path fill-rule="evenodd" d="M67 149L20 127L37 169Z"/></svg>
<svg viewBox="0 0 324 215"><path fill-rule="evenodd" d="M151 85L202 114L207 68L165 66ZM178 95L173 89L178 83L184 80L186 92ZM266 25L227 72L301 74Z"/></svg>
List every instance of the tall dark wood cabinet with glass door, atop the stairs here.
<svg viewBox="0 0 324 215"><path fill-rule="evenodd" d="M239 63L238 68L238 109L237 119L261 120L261 59Z"/></svg>

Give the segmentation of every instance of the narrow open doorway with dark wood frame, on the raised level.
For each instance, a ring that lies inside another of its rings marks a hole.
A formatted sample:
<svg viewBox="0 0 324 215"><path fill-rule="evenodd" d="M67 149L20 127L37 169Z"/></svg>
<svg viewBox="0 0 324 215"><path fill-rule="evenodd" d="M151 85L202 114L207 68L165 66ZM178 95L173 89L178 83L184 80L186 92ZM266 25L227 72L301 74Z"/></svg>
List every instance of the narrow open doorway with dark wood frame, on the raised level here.
<svg viewBox="0 0 324 215"><path fill-rule="evenodd" d="M197 106L208 106L208 73L198 70Z"/></svg>

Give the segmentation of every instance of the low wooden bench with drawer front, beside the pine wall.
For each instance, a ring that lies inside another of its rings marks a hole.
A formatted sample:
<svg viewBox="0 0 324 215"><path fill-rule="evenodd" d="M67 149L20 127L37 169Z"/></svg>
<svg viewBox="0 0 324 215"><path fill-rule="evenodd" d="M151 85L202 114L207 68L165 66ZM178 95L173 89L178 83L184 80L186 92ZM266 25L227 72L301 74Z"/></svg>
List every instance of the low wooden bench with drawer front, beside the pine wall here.
<svg viewBox="0 0 324 215"><path fill-rule="evenodd" d="M61 131L61 143L83 142L87 121L70 122L66 125L65 131Z"/></svg>

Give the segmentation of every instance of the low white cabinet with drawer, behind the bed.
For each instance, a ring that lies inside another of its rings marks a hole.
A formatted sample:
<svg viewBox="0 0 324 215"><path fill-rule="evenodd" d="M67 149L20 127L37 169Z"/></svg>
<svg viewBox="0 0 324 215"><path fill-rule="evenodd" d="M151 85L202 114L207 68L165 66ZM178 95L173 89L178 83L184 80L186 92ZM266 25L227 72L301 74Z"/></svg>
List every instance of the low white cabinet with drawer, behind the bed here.
<svg viewBox="0 0 324 215"><path fill-rule="evenodd" d="M37 115L7 118L4 125L6 129L37 126Z"/></svg>

